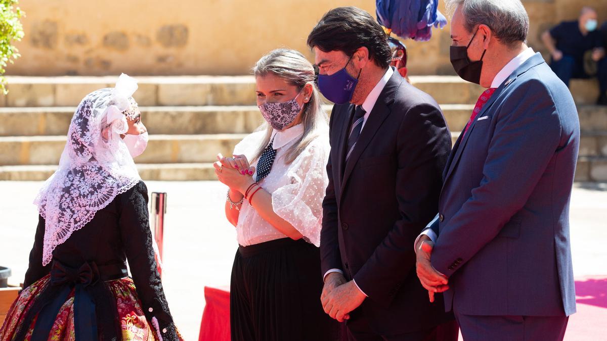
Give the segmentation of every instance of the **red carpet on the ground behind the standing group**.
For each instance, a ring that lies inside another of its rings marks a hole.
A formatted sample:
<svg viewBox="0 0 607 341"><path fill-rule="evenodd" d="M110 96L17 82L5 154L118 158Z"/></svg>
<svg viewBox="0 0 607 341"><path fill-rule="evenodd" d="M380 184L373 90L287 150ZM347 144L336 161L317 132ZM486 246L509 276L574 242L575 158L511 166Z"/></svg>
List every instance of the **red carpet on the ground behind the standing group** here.
<svg viewBox="0 0 607 341"><path fill-rule="evenodd" d="M565 341L607 341L607 276L578 277L575 294ZM229 341L229 288L205 287L205 299L198 340Z"/></svg>

